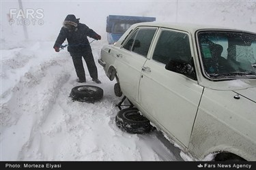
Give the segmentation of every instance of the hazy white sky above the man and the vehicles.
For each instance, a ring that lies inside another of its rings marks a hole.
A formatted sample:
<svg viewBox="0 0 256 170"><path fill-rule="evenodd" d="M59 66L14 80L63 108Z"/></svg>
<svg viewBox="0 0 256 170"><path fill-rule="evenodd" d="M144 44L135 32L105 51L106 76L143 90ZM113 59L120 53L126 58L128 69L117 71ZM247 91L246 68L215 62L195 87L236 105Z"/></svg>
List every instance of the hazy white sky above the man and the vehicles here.
<svg viewBox="0 0 256 170"><path fill-rule="evenodd" d="M18 1L1 1L2 39L24 37L23 26L8 22L10 10L18 8ZM256 28L256 1L23 1L23 9L44 11L44 24L38 25L37 20L27 27L29 38L38 40L54 40L67 14L75 14L103 37L109 14L152 16L159 22L213 24L247 31Z"/></svg>

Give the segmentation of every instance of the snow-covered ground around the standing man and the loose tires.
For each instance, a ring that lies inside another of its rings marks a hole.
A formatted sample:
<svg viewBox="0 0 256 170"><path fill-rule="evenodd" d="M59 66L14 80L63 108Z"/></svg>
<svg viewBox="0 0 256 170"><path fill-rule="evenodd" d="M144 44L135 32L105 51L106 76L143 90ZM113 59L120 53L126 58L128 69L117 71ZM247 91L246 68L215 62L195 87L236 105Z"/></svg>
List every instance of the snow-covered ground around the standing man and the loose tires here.
<svg viewBox="0 0 256 170"><path fill-rule="evenodd" d="M1 160L189 160L157 131L131 135L117 128L121 98L97 62L104 41L91 44L104 90L94 104L70 99L81 84L70 54L55 53L53 43L1 50ZM85 84L95 86L87 69L86 75Z"/></svg>

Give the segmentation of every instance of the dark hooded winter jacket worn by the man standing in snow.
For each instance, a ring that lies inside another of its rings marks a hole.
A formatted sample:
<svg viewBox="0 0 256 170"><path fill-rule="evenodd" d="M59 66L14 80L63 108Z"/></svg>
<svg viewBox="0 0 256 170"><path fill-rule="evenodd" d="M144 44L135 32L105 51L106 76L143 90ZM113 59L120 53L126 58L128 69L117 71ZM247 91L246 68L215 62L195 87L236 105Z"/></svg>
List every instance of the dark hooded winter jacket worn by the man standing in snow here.
<svg viewBox="0 0 256 170"><path fill-rule="evenodd" d="M62 27L53 48L59 48L67 39L69 52L91 51L91 46L87 36L96 39L96 35L98 35L96 32L89 29L89 27L87 27L85 24L81 23L78 23L76 30L73 31L68 30L66 27Z"/></svg>

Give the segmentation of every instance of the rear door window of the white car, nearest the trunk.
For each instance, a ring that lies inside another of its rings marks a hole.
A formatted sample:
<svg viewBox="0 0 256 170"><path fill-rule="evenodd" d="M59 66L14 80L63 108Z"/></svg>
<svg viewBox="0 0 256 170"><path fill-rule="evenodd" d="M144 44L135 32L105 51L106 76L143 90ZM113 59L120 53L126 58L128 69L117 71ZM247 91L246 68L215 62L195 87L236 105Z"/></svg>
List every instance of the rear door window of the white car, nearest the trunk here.
<svg viewBox="0 0 256 170"><path fill-rule="evenodd" d="M156 29L138 29L132 34L128 41L126 41L124 48L141 54L142 56L147 56L155 33Z"/></svg>

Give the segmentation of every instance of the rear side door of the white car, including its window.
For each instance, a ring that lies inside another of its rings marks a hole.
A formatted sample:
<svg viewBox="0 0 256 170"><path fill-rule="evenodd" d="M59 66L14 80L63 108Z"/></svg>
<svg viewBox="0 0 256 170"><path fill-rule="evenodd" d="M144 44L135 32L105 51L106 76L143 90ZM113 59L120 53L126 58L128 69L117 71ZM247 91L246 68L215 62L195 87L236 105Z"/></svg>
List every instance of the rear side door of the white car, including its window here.
<svg viewBox="0 0 256 170"><path fill-rule="evenodd" d="M138 101L141 68L147 60L156 28L141 27L135 29L117 52L117 76L122 92L128 99Z"/></svg>

